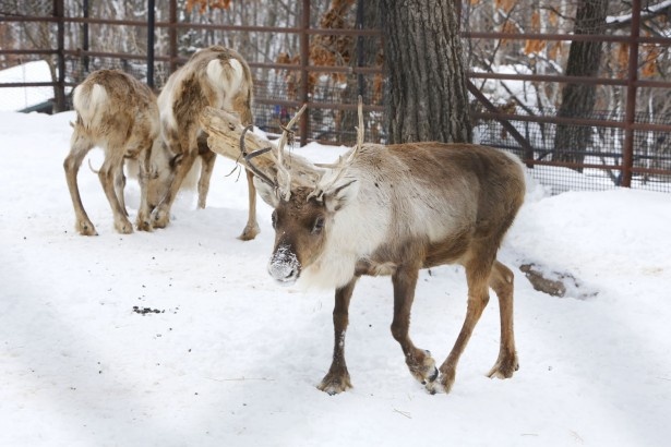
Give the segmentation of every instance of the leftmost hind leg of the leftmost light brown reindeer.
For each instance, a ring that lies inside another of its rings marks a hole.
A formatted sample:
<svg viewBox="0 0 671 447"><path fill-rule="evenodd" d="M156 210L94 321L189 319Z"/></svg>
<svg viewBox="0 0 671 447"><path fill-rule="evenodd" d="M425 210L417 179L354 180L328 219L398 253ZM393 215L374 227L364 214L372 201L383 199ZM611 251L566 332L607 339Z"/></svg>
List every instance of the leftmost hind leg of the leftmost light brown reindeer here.
<svg viewBox="0 0 671 447"><path fill-rule="evenodd" d="M70 146L70 154L65 157L63 169L65 170L65 180L68 181L70 198L72 198L72 205L74 207L74 216L76 219L74 227L82 235L98 235L96 228L93 226L88 215L86 214L86 210L84 210L80 189L76 183L76 176L80 171L80 166L82 166L84 157L86 157L86 154L93 147L93 143L88 138L82 136L75 128Z"/></svg>

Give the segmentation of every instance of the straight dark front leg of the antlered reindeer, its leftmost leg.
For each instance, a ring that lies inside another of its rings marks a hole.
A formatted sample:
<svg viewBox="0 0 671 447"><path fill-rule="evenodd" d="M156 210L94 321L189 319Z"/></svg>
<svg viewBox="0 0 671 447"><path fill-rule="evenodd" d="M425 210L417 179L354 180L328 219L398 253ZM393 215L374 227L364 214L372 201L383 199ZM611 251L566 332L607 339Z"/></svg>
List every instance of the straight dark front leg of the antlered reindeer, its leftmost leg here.
<svg viewBox="0 0 671 447"><path fill-rule="evenodd" d="M349 301L357 279L358 277L355 277L347 286L337 289L335 293L335 306L333 309L333 329L335 333L333 362L328 373L317 386L319 389L332 396L351 388L349 372L345 363L345 331L349 323Z"/></svg>

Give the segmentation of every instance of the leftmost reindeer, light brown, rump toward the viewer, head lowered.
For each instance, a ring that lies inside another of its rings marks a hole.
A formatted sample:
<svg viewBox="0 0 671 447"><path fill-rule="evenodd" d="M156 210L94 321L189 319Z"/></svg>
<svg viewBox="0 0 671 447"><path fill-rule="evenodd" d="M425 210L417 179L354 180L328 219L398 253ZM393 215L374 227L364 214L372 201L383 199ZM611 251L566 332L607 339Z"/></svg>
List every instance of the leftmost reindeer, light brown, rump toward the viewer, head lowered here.
<svg viewBox="0 0 671 447"><path fill-rule="evenodd" d="M83 235L97 235L84 210L76 181L82 160L94 146L105 150L105 161L97 173L115 216L116 230L120 233L133 231L123 198L125 160L135 160L140 165L142 197L137 229L151 230L152 210L146 201L146 188L149 154L159 135L156 96L131 75L119 70L99 70L74 89L72 102L76 121L72 124L74 131L63 168L74 206L76 230Z"/></svg>

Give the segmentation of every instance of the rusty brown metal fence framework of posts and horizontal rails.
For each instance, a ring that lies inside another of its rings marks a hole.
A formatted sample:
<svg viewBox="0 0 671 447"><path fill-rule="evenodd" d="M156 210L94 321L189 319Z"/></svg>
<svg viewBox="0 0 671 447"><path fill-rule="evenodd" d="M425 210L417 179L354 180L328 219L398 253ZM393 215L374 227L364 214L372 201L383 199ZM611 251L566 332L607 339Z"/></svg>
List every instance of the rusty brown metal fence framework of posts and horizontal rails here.
<svg viewBox="0 0 671 447"><path fill-rule="evenodd" d="M300 61L299 64L280 64L280 63L250 63L251 68L263 70L292 70L300 73L301 83L298 89L298 98L296 100L276 100L267 99L263 97L255 98L257 104L262 105L278 105L285 107L299 107L302 104L308 104L309 109L331 109L331 110L354 110L356 104L337 104L337 102L322 102L311 101L308 94L308 74L311 72L329 72L329 73L347 73L347 74L379 74L382 73L382 69L367 68L367 67L314 67L310 64L309 58L309 43L310 36L314 35L346 35L346 36L368 36L380 37L382 39L382 33L379 29L321 29L310 26L310 0L302 0L302 12L299 27L265 27L265 26L229 26L229 25L214 25L214 24L192 24L180 23L177 17L177 0L169 0L169 21L156 22L154 14L148 14L147 22L145 21L128 21L128 20L106 20L106 19L92 19L88 17L88 0L84 2L84 16L74 17L67 16L64 14L63 0L53 0L52 16L2 16L2 22L50 22L57 24L57 38L56 48L38 49L38 50L23 50L23 49L0 49L0 55L24 55L24 56L56 56L58 60L58 78L50 83L9 83L0 84L0 87L38 87L38 86L52 86L55 88L55 98L59 104L56 105L58 110L64 110L65 104L65 88L72 87L65 81L65 59L67 58L82 58L87 60L91 57L104 57L112 59L130 59L130 60L146 60L147 63L147 78L149 85L154 83L154 64L156 62L168 62L170 72L175 71L180 62L183 62L185 58L178 56L177 35L178 31L182 28L194 29L219 29L227 32L265 32L265 33L285 33L285 34L298 34L300 46ZM148 8L153 12L154 0L148 1ZM591 35L591 34L511 34L511 33L498 33L498 32L463 32L462 35L465 39L508 39L508 40L561 40L561 41L610 41L610 43L623 43L628 46L628 69L627 75L624 80L604 78L604 77L585 77L585 76L565 76L565 75L532 75L532 74L503 74L503 73L481 73L481 72L468 72L468 88L470 93L480 101L486 111L479 111L474 113L474 119L479 120L495 120L511 133L516 142L523 148L525 154L525 162L529 167L536 165L540 166L556 166L566 168L589 168L595 167L599 169L616 169L622 172L622 186L631 188L632 178L634 173L642 174L664 174L671 176L671 171L663 169L639 168L634 166L634 132L635 131L654 131L654 132L669 132L671 133L671 124L654 124L636 121L636 97L639 88L671 88L671 82L666 81L646 81L638 78L638 52L639 46L644 44L656 44L664 47L671 47L671 38L664 37L650 37L640 36L640 11L642 0L632 0L632 22L631 33L628 35ZM84 35L87 36L87 27L89 24L110 24L110 25L125 25L125 26L141 26L147 27L147 55L129 55L117 52L96 52L89 51L87 41L84 43L82 48L72 50L64 48L64 25L80 23L84 27ZM168 55L155 55L154 53L154 35L156 28L168 29ZM360 59L359 59L360 60ZM561 118L551 116L520 116L514 113L506 113L499 110L488 98L482 95L470 80L502 80L502 81L530 81L530 82L546 82L546 83L583 83L591 85L616 85L626 88L625 100L625 116L623 121L614 120L595 120L595 119L582 119L582 118ZM364 106L366 111L383 111L382 106L368 105ZM302 144L308 141L309 129L309 113L305 113L299 124L299 137ZM535 160L532 157L534 149L526 138L515 130L511 124L511 121L535 122L535 123L550 123L550 124L572 124L572 125L588 125L597 128L616 128L624 131L624 143L622 153L622 164L618 166L604 166L604 165L585 165L561 161L548 161L548 160Z"/></svg>

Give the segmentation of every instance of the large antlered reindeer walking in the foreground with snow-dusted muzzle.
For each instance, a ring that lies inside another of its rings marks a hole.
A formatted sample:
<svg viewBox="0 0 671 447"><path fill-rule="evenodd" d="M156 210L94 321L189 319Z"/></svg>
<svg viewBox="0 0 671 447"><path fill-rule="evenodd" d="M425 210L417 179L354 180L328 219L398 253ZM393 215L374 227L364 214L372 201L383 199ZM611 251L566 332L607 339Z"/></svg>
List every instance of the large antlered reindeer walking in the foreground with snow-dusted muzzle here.
<svg viewBox="0 0 671 447"><path fill-rule="evenodd" d="M286 141L287 131L276 153L262 149L244 160L256 172L260 195L274 208L271 276L283 285L300 280L335 288L333 362L319 388L334 395L351 387L345 333L349 302L362 275L391 275L392 335L410 373L430 392L451 390L491 287L499 298L501 345L488 375L511 377L518 369L514 276L496 252L524 201L519 160L474 144L362 144L361 104L357 145L337 164L313 166L311 178L301 174L307 161L297 155L291 155L290 167L285 165ZM254 165L256 156L260 162ZM300 161L299 171L295 160ZM465 267L468 306L452 352L436 369L429 351L412 343L408 329L419 270L442 264Z"/></svg>

